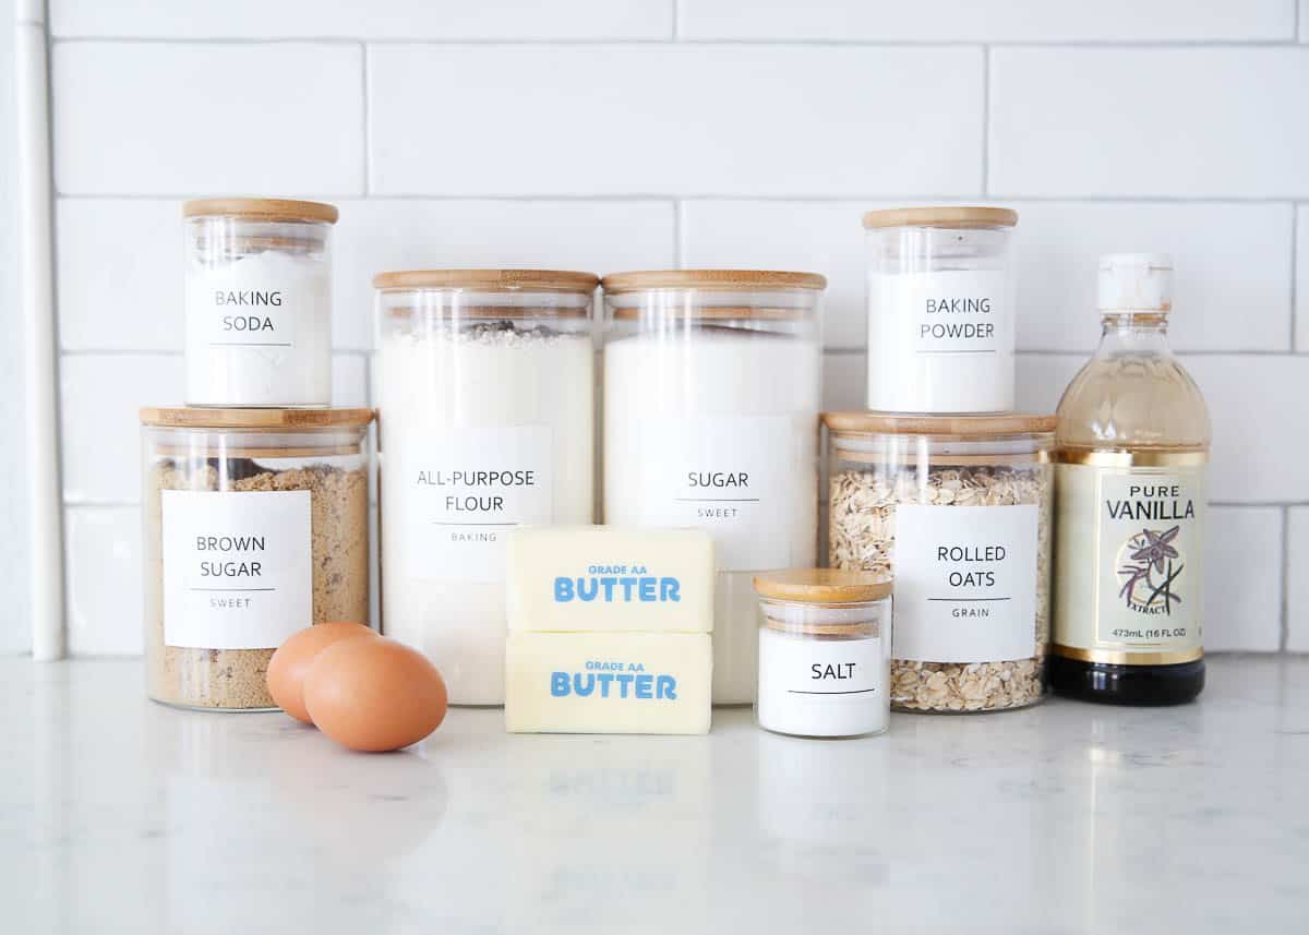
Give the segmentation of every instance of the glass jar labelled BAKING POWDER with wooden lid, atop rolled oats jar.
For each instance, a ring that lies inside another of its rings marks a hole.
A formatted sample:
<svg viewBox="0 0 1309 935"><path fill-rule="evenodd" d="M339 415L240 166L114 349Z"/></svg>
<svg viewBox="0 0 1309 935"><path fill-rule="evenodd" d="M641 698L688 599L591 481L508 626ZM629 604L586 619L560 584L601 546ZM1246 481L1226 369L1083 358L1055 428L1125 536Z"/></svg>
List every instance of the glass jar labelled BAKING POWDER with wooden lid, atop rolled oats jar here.
<svg viewBox="0 0 1309 935"><path fill-rule="evenodd" d="M1013 409L1014 288L1008 208L869 211L868 409Z"/></svg>

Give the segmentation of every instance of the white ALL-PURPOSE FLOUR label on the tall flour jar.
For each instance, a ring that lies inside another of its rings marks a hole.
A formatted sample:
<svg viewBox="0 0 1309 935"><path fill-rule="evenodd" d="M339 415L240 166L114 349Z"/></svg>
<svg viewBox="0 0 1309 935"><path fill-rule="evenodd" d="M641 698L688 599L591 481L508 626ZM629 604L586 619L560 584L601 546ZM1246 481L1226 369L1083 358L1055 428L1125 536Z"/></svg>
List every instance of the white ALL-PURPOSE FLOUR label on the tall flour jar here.
<svg viewBox="0 0 1309 935"><path fill-rule="evenodd" d="M428 581L504 581L504 545L518 525L554 515L548 426L461 428L407 439L387 479L407 488L403 562ZM393 452L384 452L389 458ZM384 487L382 496L386 496Z"/></svg>

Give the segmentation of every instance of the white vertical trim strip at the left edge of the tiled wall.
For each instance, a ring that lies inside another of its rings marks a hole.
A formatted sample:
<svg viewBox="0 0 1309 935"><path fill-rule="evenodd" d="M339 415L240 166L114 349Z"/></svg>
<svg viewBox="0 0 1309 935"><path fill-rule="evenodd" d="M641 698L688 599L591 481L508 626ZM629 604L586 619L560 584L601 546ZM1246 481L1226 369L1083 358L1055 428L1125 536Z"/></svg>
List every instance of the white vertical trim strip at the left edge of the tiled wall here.
<svg viewBox="0 0 1309 935"><path fill-rule="evenodd" d="M56 407L50 77L45 4L21 1L14 29L18 113L18 301L24 321L25 450L27 453L27 553L31 557L31 655L63 659L63 515Z"/></svg>

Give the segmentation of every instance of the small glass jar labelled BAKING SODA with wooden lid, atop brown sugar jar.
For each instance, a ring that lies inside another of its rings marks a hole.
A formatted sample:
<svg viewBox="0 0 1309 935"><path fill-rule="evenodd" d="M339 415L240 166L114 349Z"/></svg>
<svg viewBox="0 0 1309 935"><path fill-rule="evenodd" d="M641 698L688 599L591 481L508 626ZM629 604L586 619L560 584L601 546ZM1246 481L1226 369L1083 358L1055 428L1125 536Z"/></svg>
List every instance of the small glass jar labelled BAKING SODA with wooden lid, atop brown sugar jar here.
<svg viewBox="0 0 1309 935"><path fill-rule="evenodd" d="M182 216L187 405L330 405L336 208L213 198Z"/></svg>

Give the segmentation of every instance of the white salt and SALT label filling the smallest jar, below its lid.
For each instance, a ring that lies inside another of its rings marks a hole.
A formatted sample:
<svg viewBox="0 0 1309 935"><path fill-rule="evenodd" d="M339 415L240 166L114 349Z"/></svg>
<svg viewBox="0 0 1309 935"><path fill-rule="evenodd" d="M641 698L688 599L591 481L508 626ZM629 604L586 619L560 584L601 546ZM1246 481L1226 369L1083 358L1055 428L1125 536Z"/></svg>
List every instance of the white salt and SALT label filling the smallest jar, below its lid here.
<svg viewBox="0 0 1309 935"><path fill-rule="evenodd" d="M889 660L881 639L759 631L759 723L771 731L848 736L886 724Z"/></svg>

